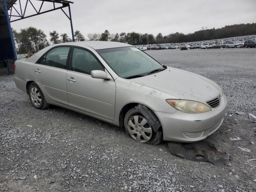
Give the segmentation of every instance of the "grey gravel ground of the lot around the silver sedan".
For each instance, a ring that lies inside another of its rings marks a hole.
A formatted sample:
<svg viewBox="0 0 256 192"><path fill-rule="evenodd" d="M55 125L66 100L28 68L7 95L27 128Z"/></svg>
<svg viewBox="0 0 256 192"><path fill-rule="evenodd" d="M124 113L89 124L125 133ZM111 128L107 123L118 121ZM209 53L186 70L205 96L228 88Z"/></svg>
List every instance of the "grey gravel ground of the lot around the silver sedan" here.
<svg viewBox="0 0 256 192"><path fill-rule="evenodd" d="M256 49L147 53L222 86L228 114L208 139L234 158L232 166L184 160L170 154L166 142L141 144L118 127L64 108L37 110L13 76L0 76L0 191L255 192L256 160L248 160L256 158L256 123L247 113L256 115Z"/></svg>

